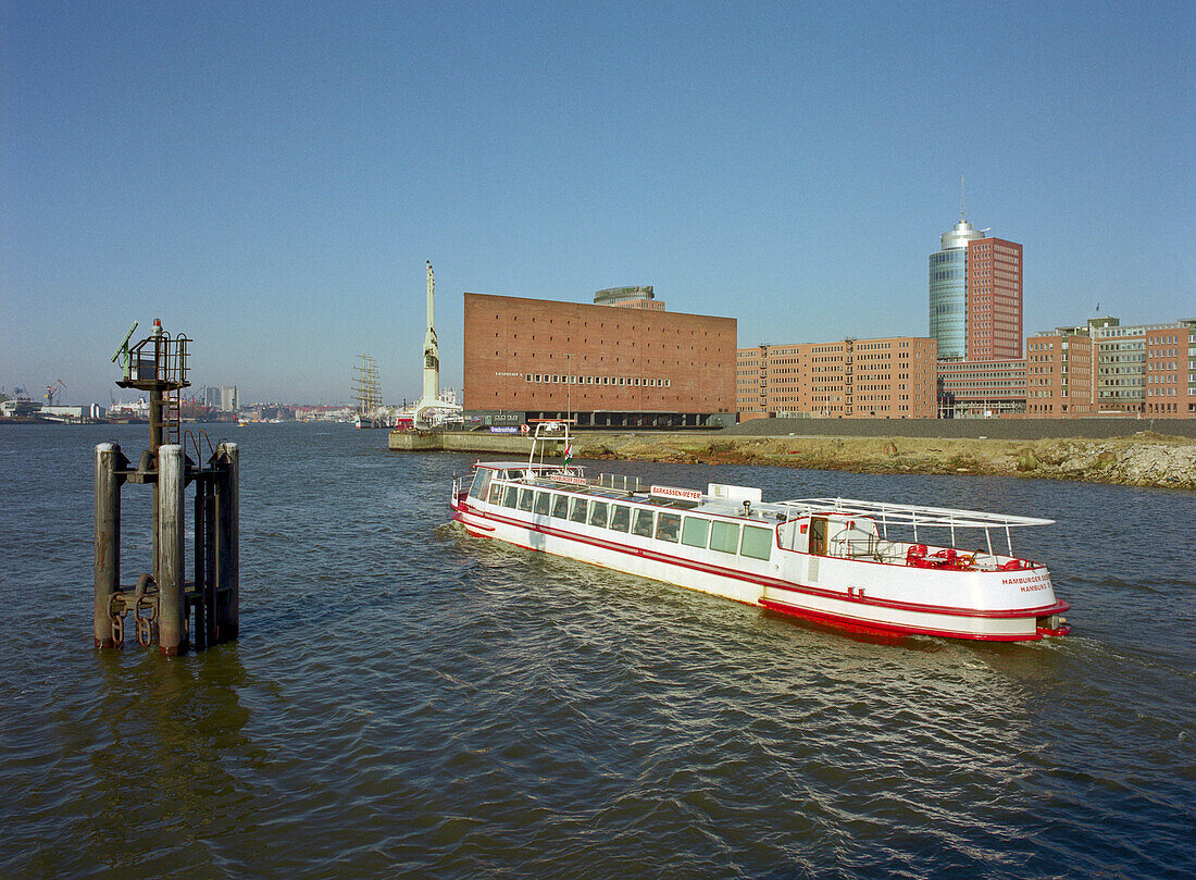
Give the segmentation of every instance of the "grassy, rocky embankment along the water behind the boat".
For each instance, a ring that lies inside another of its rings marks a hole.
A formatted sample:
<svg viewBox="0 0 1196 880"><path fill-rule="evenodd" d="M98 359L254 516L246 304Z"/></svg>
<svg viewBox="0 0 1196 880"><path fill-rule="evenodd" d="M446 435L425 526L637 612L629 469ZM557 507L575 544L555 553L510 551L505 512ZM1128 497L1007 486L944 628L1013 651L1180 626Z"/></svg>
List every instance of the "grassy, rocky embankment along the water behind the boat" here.
<svg viewBox="0 0 1196 880"><path fill-rule="evenodd" d="M869 474L1001 474L1196 490L1196 441L1151 431L1109 439L581 435L575 454Z"/></svg>

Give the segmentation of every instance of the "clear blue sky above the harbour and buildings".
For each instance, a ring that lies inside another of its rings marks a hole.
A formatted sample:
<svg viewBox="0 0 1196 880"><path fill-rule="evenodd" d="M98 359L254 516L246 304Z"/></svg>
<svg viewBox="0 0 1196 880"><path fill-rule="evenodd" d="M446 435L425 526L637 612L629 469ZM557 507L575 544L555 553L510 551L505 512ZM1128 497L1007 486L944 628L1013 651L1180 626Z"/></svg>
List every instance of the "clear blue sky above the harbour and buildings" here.
<svg viewBox="0 0 1196 880"><path fill-rule="evenodd" d="M651 284L739 344L926 335L959 214L1026 330L1196 317L1196 4L0 0L0 384L136 318L244 400L441 383L462 292ZM139 334L140 335L140 334Z"/></svg>

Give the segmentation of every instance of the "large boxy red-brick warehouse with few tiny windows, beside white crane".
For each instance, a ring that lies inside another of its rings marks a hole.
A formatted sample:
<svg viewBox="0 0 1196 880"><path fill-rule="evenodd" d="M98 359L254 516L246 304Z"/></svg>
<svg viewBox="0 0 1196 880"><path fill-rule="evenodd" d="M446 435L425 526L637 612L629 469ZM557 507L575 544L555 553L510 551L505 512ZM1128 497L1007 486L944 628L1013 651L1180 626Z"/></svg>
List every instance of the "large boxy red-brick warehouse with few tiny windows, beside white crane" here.
<svg viewBox="0 0 1196 880"><path fill-rule="evenodd" d="M611 427L736 420L732 317L465 293L464 330L466 420L572 415L581 426Z"/></svg>

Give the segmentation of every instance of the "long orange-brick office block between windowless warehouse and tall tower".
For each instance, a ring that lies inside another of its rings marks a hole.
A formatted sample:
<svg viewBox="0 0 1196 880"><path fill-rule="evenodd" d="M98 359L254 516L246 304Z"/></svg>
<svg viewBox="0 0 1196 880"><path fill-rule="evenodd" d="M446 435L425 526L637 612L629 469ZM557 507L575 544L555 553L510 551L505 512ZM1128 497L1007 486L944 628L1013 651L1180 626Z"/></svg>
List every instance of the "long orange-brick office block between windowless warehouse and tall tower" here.
<svg viewBox="0 0 1196 880"><path fill-rule="evenodd" d="M895 336L740 348L736 400L740 421L934 418L934 340Z"/></svg>

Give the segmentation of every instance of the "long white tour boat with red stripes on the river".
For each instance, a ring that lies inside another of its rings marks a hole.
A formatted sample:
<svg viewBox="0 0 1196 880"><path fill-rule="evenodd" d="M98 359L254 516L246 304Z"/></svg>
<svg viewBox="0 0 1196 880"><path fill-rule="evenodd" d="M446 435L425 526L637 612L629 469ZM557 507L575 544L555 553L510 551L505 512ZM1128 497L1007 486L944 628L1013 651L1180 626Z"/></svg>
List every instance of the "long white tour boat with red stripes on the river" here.
<svg viewBox="0 0 1196 880"><path fill-rule="evenodd" d="M562 433L563 461L544 461ZM1070 632L1050 572L1013 553L1013 528L1051 520L590 479L569 450L567 424L538 424L527 461L480 461L471 481L453 479L453 518L471 535L850 630L999 642Z"/></svg>

